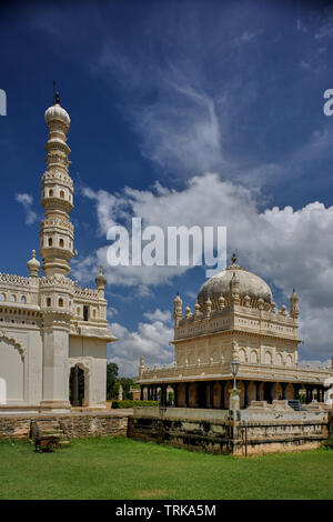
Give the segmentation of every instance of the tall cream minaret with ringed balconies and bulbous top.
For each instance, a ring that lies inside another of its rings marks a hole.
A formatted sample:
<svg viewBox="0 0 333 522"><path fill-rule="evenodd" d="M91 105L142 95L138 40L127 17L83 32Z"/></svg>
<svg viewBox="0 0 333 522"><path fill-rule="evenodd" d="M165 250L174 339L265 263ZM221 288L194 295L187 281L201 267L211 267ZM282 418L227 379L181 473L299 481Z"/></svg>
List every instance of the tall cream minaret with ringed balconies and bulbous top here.
<svg viewBox="0 0 333 522"><path fill-rule="evenodd" d="M46 215L40 227L40 255L44 275L49 278L68 275L73 257L73 225L69 220L73 209L73 181L68 174L70 148L67 144L70 117L60 106L58 92L54 104L46 111L46 122L49 129L48 169L41 184Z"/></svg>

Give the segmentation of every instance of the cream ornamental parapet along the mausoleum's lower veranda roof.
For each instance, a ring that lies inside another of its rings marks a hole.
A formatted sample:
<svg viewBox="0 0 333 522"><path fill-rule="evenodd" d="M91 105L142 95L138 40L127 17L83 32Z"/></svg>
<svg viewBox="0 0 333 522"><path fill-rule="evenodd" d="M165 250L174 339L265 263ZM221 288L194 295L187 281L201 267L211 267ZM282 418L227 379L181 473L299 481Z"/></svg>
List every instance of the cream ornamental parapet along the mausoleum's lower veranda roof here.
<svg viewBox="0 0 333 522"><path fill-rule="evenodd" d="M251 381L323 383L332 375L330 369L309 369L300 364L292 367L241 363L236 379ZM213 362L165 368L144 369L138 382L182 382L200 380L232 379L229 363Z"/></svg>

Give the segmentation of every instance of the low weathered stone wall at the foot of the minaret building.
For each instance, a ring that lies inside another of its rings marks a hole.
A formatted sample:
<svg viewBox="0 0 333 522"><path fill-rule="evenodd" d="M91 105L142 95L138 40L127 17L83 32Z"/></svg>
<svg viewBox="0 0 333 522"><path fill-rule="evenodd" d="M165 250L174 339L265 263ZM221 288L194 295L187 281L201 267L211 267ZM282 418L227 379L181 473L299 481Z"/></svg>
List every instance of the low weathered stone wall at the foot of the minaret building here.
<svg viewBox="0 0 333 522"><path fill-rule="evenodd" d="M58 421L69 438L127 436L128 414L52 414L52 415L3 415L0 416L0 439L29 439L36 421Z"/></svg>

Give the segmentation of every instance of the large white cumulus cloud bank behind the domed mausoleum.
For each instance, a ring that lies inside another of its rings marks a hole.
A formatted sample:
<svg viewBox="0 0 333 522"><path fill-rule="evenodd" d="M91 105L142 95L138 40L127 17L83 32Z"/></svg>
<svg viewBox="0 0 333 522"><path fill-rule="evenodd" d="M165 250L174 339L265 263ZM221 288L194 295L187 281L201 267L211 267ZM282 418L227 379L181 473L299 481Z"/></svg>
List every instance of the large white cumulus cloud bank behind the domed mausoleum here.
<svg viewBox="0 0 333 522"><path fill-rule="evenodd" d="M127 212L127 221L132 215L142 217L145 225L159 225L163 230L168 225L180 224L226 225L229 249L239 249L242 265L274 284L285 300L292 289L296 288L301 300L301 333L306 339L302 348L304 358L310 359L313 354L324 359L330 357L333 207L326 208L323 203L312 202L297 210L292 207L274 207L259 211L261 198L258 191L221 181L213 173L193 178L185 189L179 191L162 185L145 191L125 188L122 194L118 194L115 207L113 194L109 198L104 191L90 191L89 197L95 202L100 228L104 233L109 223L123 220ZM91 273L95 273L99 263L105 264L107 249L108 245L102 247L77 265L78 274L89 279ZM107 275L113 284L141 287L149 291L152 287L171 283L175 275L189 269L107 267ZM144 328L141 324L140 334ZM138 345L138 338L132 335L133 333L127 333L125 342L130 343L135 339ZM168 342L170 339L171 335Z"/></svg>

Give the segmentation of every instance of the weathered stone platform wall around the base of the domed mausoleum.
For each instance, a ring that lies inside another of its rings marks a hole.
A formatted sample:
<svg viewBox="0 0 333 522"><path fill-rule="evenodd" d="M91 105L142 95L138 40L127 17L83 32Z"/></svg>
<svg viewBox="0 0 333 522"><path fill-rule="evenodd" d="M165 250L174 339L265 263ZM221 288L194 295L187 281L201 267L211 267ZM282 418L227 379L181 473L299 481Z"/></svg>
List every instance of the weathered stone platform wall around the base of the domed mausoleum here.
<svg viewBox="0 0 333 522"><path fill-rule="evenodd" d="M258 413L240 411L233 419L228 411L135 409L129 419L129 436L235 455L312 450L329 438L327 413Z"/></svg>

